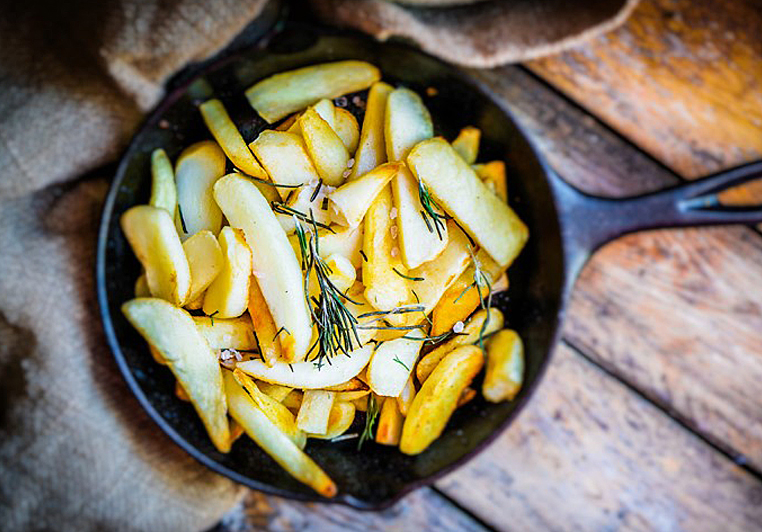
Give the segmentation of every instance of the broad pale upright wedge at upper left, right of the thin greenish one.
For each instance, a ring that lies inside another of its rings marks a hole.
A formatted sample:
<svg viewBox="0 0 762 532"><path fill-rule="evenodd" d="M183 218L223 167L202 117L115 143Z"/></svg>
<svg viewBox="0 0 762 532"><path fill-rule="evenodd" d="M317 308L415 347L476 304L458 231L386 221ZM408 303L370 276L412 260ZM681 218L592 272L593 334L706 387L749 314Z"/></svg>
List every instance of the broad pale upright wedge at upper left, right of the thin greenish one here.
<svg viewBox="0 0 762 532"><path fill-rule="evenodd" d="M181 240L203 230L215 236L220 232L222 212L212 187L224 174L225 154L216 142L197 142L180 154L175 165L178 208L172 216Z"/></svg>

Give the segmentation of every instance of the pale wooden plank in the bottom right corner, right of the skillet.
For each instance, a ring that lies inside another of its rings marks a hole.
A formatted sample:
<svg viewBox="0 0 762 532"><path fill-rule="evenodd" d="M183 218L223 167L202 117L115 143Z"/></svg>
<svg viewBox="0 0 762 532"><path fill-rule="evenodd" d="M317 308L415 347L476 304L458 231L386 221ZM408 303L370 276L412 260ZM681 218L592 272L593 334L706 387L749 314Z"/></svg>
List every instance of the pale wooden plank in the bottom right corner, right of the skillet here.
<svg viewBox="0 0 762 532"><path fill-rule="evenodd" d="M499 530L762 530L762 485L562 345L503 436L438 487Z"/></svg>

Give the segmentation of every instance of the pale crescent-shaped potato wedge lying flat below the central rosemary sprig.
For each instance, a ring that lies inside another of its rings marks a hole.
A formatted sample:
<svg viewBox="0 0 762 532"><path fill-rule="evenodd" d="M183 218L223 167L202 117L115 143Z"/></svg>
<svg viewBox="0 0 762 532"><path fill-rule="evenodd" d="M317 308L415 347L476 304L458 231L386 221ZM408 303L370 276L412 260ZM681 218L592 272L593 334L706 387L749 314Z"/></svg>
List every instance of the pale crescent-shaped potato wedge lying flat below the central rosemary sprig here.
<svg viewBox="0 0 762 532"><path fill-rule="evenodd" d="M237 367L262 381L291 388L321 390L356 377L368 364L372 353L373 346L366 345L355 349L348 357L334 357L330 365L324 364L321 369L317 369L311 361L293 364L274 362L272 366L267 366L261 360L247 360L239 362Z"/></svg>

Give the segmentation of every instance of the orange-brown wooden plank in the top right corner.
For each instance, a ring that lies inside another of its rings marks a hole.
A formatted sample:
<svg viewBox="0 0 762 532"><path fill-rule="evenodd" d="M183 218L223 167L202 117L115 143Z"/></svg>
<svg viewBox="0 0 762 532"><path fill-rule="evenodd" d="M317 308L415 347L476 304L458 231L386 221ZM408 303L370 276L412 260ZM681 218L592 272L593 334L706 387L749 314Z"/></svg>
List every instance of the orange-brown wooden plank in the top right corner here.
<svg viewBox="0 0 762 532"><path fill-rule="evenodd" d="M529 68L686 177L762 158L758 0L643 0Z"/></svg>

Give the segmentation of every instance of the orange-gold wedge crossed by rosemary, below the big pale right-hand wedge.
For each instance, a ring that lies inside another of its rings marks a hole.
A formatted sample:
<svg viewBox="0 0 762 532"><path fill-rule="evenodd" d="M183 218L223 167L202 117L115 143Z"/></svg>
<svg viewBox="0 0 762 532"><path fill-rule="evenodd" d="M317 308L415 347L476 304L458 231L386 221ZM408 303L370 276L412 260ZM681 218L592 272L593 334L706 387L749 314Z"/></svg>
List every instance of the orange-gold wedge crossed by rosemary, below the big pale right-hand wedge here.
<svg viewBox="0 0 762 532"><path fill-rule="evenodd" d="M479 263L481 272L487 277L492 285L493 293L496 292L495 283L497 278L505 271L505 268L497 264L484 251L476 253L476 261ZM466 268L457 281L447 289L442 298L431 313L431 336L437 336L452 329L459 321L465 321L481 303L481 297L487 297L489 288L483 286L484 280L479 279L482 287L477 289L475 283L475 267L470 265Z"/></svg>

